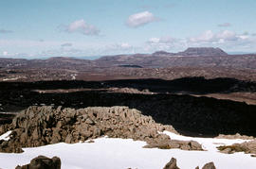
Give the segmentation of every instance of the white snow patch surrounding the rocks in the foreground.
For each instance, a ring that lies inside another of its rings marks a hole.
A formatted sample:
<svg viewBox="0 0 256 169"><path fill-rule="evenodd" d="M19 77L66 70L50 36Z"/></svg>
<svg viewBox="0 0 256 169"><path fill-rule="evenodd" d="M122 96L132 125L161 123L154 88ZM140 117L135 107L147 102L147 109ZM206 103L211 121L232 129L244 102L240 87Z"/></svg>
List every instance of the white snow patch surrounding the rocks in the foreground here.
<svg viewBox="0 0 256 169"><path fill-rule="evenodd" d="M194 169L213 161L217 169L255 169L256 158L244 153L222 154L216 146L242 143L244 140L192 138L164 133L175 140L197 141L207 151L183 151L180 149L142 148L145 142L131 139L99 138L95 143L50 144L41 147L24 148L22 154L0 153L0 168L12 169L17 164L27 164L38 155L52 158L58 156L64 169L161 169L171 160L177 159L181 169ZM8 134L5 135L5 137ZM0 136L0 138L2 138Z"/></svg>

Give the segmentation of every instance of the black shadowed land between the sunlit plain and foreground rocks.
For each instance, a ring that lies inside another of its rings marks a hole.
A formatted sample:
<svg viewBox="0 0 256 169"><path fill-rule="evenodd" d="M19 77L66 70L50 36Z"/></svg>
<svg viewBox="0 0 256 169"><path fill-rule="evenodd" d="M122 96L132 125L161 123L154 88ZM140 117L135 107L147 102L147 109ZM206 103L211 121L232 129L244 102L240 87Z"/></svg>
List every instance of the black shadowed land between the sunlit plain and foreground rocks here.
<svg viewBox="0 0 256 169"><path fill-rule="evenodd" d="M240 133L256 136L255 105L184 94L231 92L255 94L255 82L196 77L171 81L140 79L100 82L16 82L0 83L0 86L0 108L6 112L18 112L33 105L54 105L74 109L126 106L140 110L143 115L152 116L156 123L172 125L183 134L217 136ZM117 90L116 93L108 91L111 88L125 87L136 89L139 93L131 93L133 90L129 89L127 93L121 93L121 90ZM8 122L11 118L12 116ZM6 122L2 121L2 124Z"/></svg>

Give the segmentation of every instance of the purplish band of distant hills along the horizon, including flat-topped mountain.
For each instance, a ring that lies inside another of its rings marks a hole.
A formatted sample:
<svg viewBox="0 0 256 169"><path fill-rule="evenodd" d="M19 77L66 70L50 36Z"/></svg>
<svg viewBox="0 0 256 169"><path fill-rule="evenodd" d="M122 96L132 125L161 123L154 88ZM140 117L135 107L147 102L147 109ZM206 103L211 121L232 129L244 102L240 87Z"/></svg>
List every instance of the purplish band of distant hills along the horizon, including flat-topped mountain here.
<svg viewBox="0 0 256 169"><path fill-rule="evenodd" d="M98 68L228 67L256 69L256 55L229 55L220 48L190 47L183 52L106 56L100 59L0 59L0 67L51 68L90 71Z"/></svg>

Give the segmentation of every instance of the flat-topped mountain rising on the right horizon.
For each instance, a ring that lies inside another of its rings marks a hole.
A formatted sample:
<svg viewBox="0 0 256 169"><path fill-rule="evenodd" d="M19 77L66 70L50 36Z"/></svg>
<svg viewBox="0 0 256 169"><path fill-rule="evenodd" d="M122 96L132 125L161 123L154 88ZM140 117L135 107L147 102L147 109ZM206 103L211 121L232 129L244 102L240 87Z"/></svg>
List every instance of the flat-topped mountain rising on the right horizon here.
<svg viewBox="0 0 256 169"><path fill-rule="evenodd" d="M228 56L226 52L224 52L220 48L214 47L189 47L184 52L179 52L177 55L181 56L196 56L196 57L219 57L219 56Z"/></svg>

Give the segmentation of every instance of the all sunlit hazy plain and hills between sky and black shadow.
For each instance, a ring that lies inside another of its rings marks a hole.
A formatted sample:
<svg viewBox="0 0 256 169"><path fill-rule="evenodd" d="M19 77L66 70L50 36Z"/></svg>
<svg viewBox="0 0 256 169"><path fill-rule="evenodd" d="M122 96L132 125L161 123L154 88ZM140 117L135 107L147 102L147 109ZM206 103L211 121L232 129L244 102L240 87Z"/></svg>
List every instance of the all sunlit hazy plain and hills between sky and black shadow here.
<svg viewBox="0 0 256 169"><path fill-rule="evenodd" d="M256 55L228 55L219 48L189 48L184 52L107 56L100 59L0 59L0 80L104 80L184 76L256 79Z"/></svg>

